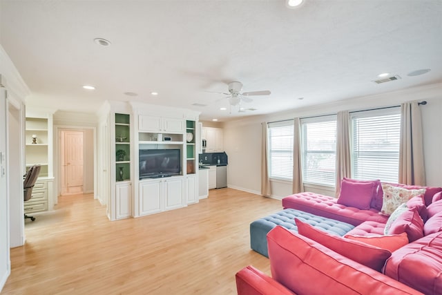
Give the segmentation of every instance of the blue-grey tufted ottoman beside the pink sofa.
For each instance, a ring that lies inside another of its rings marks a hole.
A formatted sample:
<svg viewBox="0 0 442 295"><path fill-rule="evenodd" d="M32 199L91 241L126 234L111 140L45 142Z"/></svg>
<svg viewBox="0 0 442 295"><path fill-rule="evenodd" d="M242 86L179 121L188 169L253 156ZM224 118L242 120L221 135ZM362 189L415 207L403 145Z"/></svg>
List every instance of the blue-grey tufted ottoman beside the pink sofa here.
<svg viewBox="0 0 442 295"><path fill-rule="evenodd" d="M251 222L250 224L250 247L251 249L257 251L266 257L267 254L267 233L280 225L289 229L291 231L298 232L298 228L295 224L295 217L300 220L323 229L330 234L336 234L338 236L344 236L350 230L354 229L354 225L342 222L339 220L334 220L330 218L325 218L323 216L317 216L304 211L299 211L295 209L284 209L282 211L271 214Z"/></svg>

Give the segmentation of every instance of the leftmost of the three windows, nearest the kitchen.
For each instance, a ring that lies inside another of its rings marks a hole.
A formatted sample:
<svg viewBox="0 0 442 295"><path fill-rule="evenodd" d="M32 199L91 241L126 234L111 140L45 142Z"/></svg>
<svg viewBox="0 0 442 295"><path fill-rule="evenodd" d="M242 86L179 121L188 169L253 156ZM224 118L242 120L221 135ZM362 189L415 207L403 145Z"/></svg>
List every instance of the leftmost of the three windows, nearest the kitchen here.
<svg viewBox="0 0 442 295"><path fill-rule="evenodd" d="M291 180L293 178L292 120L269 123L269 177Z"/></svg>

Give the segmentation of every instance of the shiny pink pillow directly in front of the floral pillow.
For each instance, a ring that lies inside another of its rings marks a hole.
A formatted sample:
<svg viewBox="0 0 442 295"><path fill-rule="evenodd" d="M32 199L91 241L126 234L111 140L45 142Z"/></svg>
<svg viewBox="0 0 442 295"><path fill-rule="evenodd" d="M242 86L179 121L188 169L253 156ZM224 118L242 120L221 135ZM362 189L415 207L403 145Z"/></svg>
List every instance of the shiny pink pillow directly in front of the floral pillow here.
<svg viewBox="0 0 442 295"><path fill-rule="evenodd" d="M423 237L423 220L416 208L408 209L401 214L390 227L388 234L407 233L408 240L414 242Z"/></svg>

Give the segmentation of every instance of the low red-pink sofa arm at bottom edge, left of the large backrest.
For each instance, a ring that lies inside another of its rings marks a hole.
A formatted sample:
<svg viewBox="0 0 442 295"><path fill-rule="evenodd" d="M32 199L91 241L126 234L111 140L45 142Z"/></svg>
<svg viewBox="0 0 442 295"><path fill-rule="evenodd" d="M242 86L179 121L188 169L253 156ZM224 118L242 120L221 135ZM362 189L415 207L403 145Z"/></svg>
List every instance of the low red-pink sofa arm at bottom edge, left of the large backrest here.
<svg viewBox="0 0 442 295"><path fill-rule="evenodd" d="M236 289L238 295L295 294L251 265L236 273Z"/></svg>

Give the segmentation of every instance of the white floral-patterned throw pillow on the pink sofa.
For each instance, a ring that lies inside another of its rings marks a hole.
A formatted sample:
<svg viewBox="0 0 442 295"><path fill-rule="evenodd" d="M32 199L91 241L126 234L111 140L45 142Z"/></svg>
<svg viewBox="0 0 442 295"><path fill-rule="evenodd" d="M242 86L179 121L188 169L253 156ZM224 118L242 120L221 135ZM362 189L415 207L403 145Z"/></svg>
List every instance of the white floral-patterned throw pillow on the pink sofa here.
<svg viewBox="0 0 442 295"><path fill-rule="evenodd" d="M386 183L382 184L382 190L384 194L380 213L384 216L390 216L397 207L411 198L425 194L425 189L404 189Z"/></svg>

